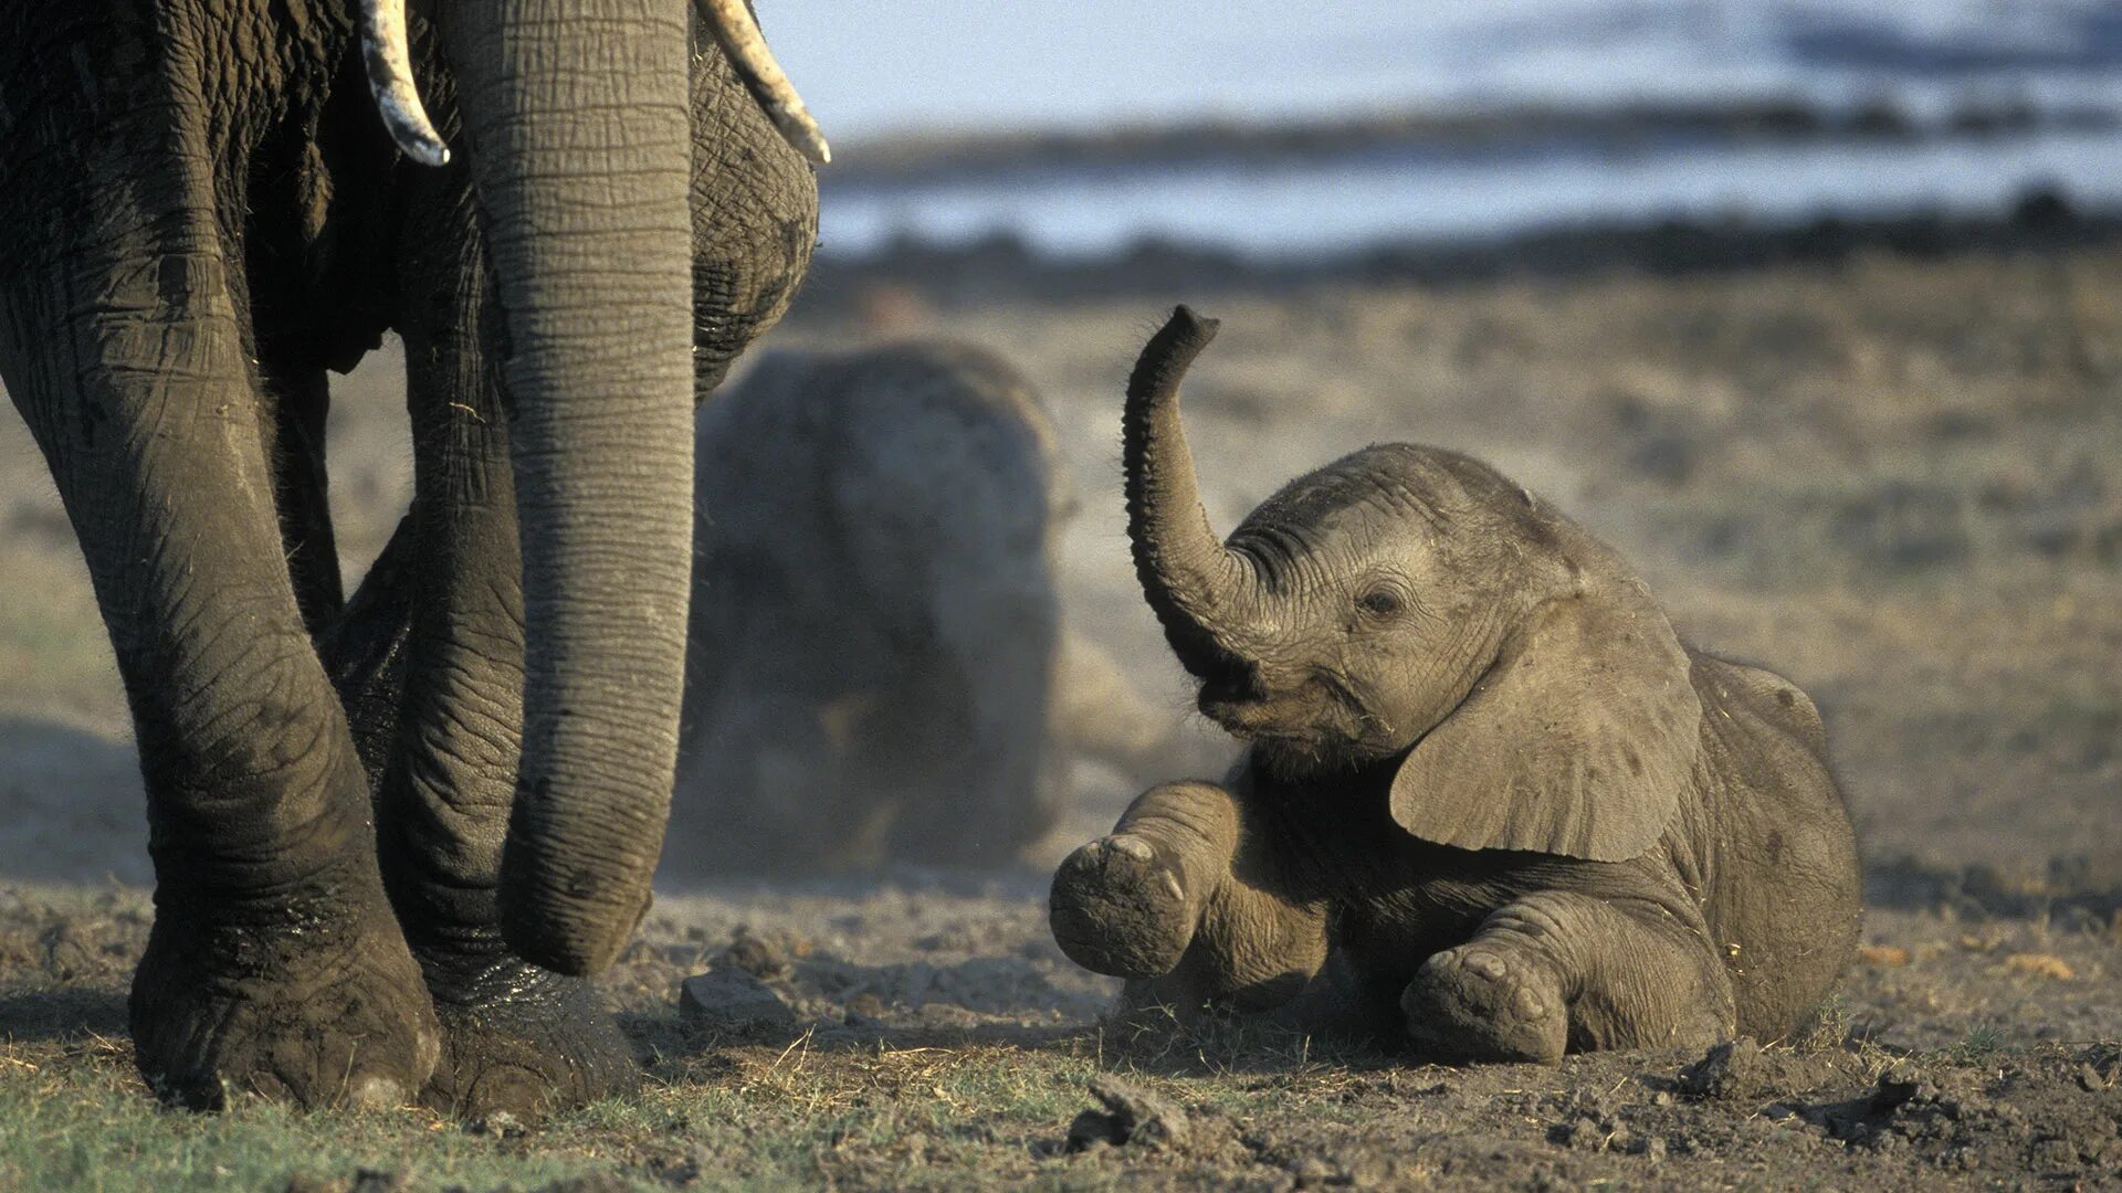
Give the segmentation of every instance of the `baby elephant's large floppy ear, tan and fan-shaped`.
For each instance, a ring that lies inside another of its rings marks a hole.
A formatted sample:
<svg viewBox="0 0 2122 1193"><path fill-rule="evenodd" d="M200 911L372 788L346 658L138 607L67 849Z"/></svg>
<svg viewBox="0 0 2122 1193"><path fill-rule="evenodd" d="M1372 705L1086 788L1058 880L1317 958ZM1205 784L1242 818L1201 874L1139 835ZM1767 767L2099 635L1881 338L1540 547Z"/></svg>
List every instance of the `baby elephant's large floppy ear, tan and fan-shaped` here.
<svg viewBox="0 0 2122 1193"><path fill-rule="evenodd" d="M1462 849L1645 853L1693 781L1702 705L1640 586L1536 607L1392 781L1392 819Z"/></svg>

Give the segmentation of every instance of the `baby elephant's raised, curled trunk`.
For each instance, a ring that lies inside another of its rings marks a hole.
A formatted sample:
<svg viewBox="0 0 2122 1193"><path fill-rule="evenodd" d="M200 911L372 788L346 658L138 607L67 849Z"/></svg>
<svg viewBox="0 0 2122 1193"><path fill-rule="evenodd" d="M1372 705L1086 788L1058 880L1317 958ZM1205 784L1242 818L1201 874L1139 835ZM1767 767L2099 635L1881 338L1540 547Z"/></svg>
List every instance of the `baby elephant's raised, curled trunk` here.
<svg viewBox="0 0 2122 1193"><path fill-rule="evenodd" d="M1195 673L1210 658L1235 654L1233 643L1260 603L1252 560L1224 548L1207 524L1180 427L1180 380L1214 338L1214 318L1176 308L1127 378L1120 420L1135 577L1171 650Z"/></svg>

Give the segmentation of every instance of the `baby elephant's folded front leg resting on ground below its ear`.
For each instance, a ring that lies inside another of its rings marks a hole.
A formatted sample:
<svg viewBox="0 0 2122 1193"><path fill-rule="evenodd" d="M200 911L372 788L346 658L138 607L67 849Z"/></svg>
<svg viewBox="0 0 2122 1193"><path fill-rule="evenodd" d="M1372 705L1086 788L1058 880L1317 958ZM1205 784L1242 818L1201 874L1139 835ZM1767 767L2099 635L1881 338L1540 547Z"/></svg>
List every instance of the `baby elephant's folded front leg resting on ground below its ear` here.
<svg viewBox="0 0 2122 1193"><path fill-rule="evenodd" d="M1732 1034L1732 981L1700 923L1649 900L1536 892L1422 964L1407 1034L1441 1059L1700 1047Z"/></svg>

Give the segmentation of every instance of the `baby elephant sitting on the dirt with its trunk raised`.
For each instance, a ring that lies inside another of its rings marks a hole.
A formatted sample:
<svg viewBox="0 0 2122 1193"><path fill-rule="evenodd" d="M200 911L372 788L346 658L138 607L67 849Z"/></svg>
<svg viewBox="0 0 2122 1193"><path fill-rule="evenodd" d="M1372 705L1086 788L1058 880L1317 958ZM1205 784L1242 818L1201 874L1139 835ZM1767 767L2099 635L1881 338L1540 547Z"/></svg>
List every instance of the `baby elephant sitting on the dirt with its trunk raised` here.
<svg viewBox="0 0 2122 1193"><path fill-rule="evenodd" d="M1135 365L1127 514L1250 749L1061 864L1067 955L1137 1006L1324 1000L1439 1059L1785 1036L1861 917L1812 701L1683 645L1611 548L1456 452L1364 448L1218 543L1178 412L1214 333L1178 308Z"/></svg>

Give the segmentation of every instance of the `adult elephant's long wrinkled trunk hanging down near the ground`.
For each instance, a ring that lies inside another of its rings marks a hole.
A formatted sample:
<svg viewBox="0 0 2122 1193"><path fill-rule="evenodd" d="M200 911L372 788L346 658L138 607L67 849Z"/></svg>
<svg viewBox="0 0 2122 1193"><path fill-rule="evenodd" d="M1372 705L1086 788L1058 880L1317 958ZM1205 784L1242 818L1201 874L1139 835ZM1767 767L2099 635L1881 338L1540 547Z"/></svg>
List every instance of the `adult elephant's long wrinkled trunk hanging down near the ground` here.
<svg viewBox="0 0 2122 1193"><path fill-rule="evenodd" d="M649 902L692 563L685 0L441 11L507 348L524 732L501 930L567 974Z"/></svg>

